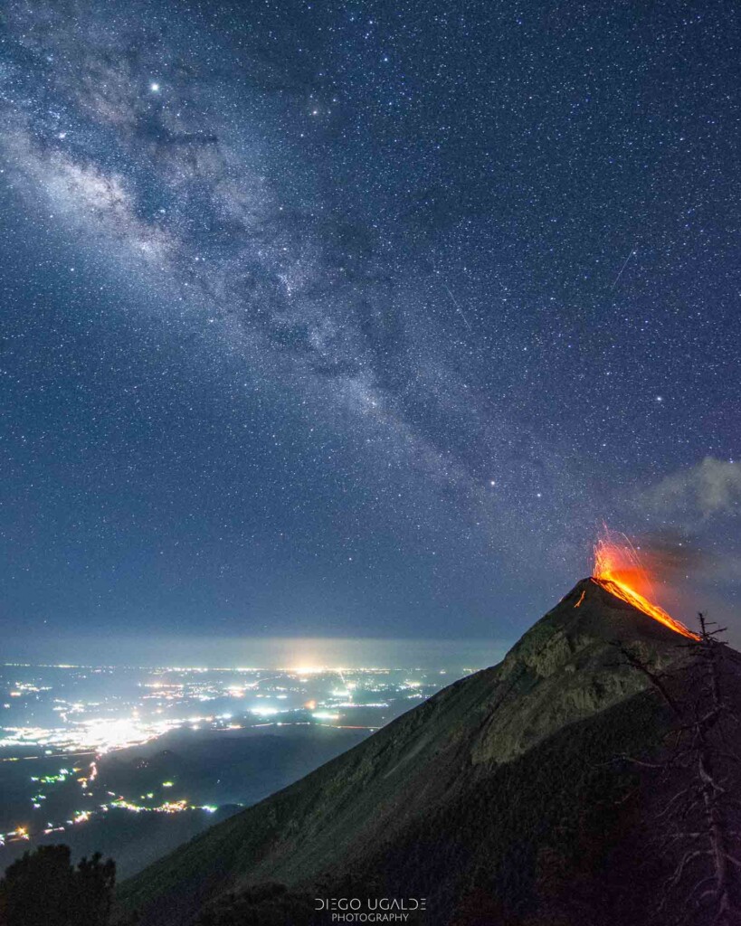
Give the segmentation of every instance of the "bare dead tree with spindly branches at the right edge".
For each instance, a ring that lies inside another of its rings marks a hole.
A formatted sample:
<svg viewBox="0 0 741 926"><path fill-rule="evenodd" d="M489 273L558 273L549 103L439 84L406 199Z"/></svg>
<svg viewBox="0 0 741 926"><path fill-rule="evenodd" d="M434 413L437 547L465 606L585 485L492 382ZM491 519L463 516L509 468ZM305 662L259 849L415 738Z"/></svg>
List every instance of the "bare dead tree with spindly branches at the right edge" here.
<svg viewBox="0 0 741 926"><path fill-rule="evenodd" d="M636 761L656 770L666 800L654 820L673 870L659 901L658 920L691 926L741 926L741 760L729 745L737 729L741 661L699 615L697 641L686 644L684 669L667 674L651 669L619 644L624 661L646 675L672 709L675 723L664 756ZM734 679L735 676L735 679ZM627 758L627 757L623 757Z"/></svg>

